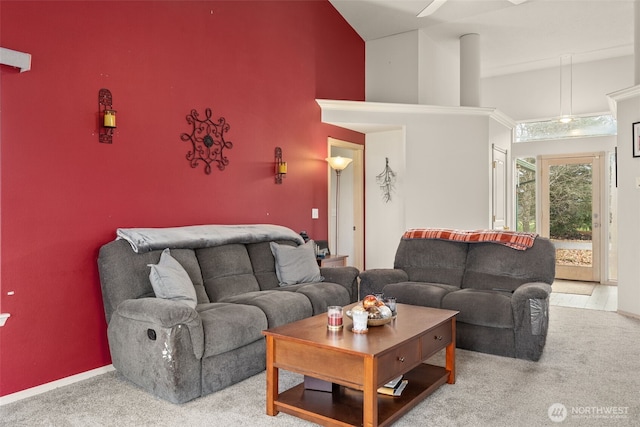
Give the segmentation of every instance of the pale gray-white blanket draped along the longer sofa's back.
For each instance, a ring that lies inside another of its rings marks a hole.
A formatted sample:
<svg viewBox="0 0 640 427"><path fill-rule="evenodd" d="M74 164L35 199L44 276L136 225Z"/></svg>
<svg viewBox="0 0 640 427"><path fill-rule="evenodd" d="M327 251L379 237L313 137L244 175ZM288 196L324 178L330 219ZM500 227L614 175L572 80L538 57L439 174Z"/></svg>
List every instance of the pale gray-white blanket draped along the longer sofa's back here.
<svg viewBox="0 0 640 427"><path fill-rule="evenodd" d="M156 249L197 249L227 243L256 243L272 240L304 240L295 231L273 224L190 225L168 228L118 228L118 239L125 239L136 253Z"/></svg>

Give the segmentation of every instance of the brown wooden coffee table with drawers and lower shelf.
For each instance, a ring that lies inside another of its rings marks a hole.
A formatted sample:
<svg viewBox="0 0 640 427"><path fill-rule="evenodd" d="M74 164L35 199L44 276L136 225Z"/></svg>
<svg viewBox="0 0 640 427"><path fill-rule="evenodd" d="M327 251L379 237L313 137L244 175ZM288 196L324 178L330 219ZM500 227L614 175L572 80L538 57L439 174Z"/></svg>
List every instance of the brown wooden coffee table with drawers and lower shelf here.
<svg viewBox="0 0 640 427"><path fill-rule="evenodd" d="M345 307L345 311L348 307ZM457 311L398 304L398 317L367 334L327 330L327 315L263 333L267 341L267 414L285 412L325 426L386 426L445 382L455 383ZM446 348L445 366L423 363ZM279 369L338 384L333 392L299 384L278 393ZM409 380L401 396L377 393L400 374Z"/></svg>

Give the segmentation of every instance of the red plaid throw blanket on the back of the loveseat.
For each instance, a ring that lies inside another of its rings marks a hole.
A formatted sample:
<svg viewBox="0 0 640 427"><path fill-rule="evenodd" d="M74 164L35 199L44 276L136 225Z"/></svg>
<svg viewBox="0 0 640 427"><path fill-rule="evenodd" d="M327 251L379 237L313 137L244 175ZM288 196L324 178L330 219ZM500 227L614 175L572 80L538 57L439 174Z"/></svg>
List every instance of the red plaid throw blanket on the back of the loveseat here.
<svg viewBox="0 0 640 427"><path fill-rule="evenodd" d="M451 230L447 228L414 228L405 231L403 239L439 239L468 243L498 243L519 251L533 246L536 233L498 230Z"/></svg>

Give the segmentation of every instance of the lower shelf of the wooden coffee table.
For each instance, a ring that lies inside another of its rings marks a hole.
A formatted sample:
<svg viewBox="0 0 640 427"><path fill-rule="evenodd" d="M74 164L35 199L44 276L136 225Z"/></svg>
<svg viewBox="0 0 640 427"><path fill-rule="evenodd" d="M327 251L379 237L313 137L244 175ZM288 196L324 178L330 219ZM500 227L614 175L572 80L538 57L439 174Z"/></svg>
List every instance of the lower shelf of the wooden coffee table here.
<svg viewBox="0 0 640 427"><path fill-rule="evenodd" d="M378 425L390 425L426 396L447 382L449 371L441 366L420 364L407 372L409 380L401 396L378 395ZM361 426L362 395L359 390L340 386L333 393L305 390L299 384L278 395L278 411L322 425Z"/></svg>

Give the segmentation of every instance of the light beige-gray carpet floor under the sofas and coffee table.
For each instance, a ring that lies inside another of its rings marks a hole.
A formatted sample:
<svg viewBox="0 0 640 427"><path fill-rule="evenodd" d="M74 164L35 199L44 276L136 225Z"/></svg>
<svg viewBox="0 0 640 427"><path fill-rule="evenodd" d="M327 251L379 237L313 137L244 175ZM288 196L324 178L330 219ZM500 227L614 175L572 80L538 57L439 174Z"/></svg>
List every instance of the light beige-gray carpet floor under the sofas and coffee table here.
<svg viewBox="0 0 640 427"><path fill-rule="evenodd" d="M458 350L445 384L394 426L638 426L640 321L615 312L550 308L539 362ZM442 364L443 355L436 355ZM286 389L302 381L281 371ZM0 407L0 426L312 426L265 414L265 374L183 405L103 374Z"/></svg>

